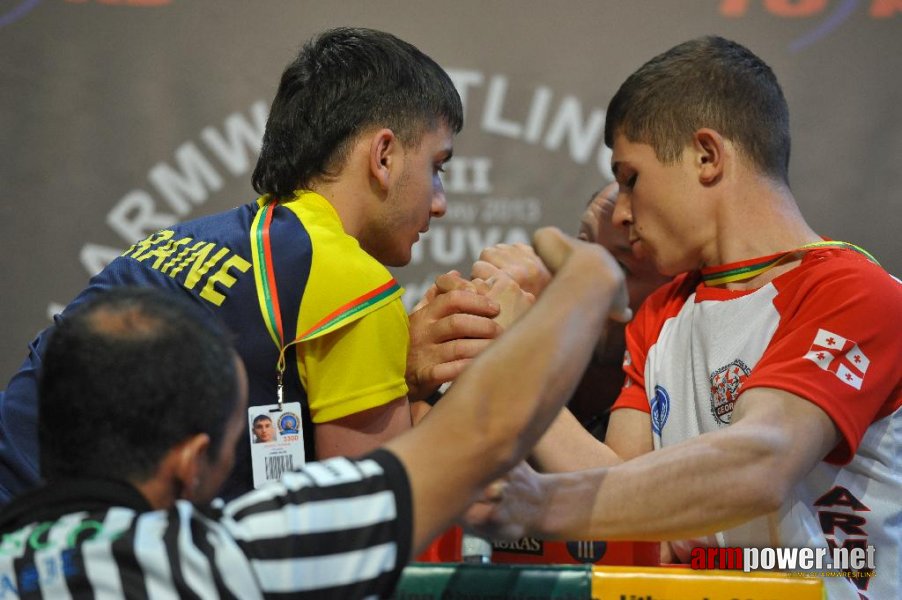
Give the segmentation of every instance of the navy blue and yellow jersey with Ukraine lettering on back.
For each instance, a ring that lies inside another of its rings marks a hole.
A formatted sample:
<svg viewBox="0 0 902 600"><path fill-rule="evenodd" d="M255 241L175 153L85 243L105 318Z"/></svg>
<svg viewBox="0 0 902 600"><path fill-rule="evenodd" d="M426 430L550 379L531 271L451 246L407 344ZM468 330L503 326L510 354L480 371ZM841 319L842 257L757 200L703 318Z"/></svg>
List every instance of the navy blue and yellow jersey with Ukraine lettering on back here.
<svg viewBox="0 0 902 600"><path fill-rule="evenodd" d="M264 210L271 211L267 260L259 252ZM247 368L252 406L277 401L280 348L295 342L285 353L284 401L301 403L308 457L315 456L313 423L407 393L403 290L318 194L297 192L277 204L259 198L155 232L94 276L57 318L124 285L185 294L221 319ZM32 343L0 401L0 502L37 483L36 375L49 331ZM224 497L251 488L249 457L243 437Z"/></svg>

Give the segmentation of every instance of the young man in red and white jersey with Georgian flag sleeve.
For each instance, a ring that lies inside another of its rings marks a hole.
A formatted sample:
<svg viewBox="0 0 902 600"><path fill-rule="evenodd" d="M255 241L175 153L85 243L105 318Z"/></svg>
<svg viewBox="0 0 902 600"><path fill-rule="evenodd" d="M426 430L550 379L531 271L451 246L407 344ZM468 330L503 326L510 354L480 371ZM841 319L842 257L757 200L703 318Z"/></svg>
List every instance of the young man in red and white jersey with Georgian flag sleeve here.
<svg viewBox="0 0 902 600"><path fill-rule="evenodd" d="M606 444L565 412L535 454L557 473L521 471L492 526L671 540L683 561L873 546L876 569L825 578L830 597L899 597L902 286L803 219L773 72L692 40L630 76L606 119L614 223L675 279L627 327Z"/></svg>

